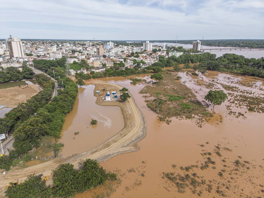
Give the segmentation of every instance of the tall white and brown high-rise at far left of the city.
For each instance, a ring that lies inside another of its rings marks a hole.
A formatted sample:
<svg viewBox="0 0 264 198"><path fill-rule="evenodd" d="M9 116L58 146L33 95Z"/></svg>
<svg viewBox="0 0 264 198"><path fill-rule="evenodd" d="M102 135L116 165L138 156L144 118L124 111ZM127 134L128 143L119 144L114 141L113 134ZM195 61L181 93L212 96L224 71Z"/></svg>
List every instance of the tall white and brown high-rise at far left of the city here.
<svg viewBox="0 0 264 198"><path fill-rule="evenodd" d="M17 37L6 39L6 48L9 50L9 55L11 58L24 58L22 41Z"/></svg>

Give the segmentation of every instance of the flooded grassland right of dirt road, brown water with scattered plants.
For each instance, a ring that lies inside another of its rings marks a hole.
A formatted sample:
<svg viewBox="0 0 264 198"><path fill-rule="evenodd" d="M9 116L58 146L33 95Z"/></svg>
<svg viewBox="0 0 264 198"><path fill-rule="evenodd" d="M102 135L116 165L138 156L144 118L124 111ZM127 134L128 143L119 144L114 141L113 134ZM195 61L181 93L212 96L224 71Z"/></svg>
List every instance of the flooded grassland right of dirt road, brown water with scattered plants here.
<svg viewBox="0 0 264 198"><path fill-rule="evenodd" d="M179 83L190 88L208 112L212 106L204 95L210 89L224 90L229 96L201 128L189 119L171 118L169 125L160 122L139 94L147 83L131 85L123 77L104 79L130 90L147 126L138 152L101 163L121 179L111 197L263 196L263 81L218 72L179 75ZM96 196L93 191L77 195Z"/></svg>

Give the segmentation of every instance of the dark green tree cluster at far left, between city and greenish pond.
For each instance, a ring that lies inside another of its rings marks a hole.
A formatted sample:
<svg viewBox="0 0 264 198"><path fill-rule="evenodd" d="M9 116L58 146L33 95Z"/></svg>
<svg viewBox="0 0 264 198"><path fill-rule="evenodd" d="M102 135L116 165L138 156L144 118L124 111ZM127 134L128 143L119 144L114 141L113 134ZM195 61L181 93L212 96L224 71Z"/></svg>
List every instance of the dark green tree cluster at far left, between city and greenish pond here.
<svg viewBox="0 0 264 198"><path fill-rule="evenodd" d="M15 67L8 67L0 71L0 83L7 83L10 81L29 80L33 78L33 71L28 68L25 63L22 64L22 71Z"/></svg>

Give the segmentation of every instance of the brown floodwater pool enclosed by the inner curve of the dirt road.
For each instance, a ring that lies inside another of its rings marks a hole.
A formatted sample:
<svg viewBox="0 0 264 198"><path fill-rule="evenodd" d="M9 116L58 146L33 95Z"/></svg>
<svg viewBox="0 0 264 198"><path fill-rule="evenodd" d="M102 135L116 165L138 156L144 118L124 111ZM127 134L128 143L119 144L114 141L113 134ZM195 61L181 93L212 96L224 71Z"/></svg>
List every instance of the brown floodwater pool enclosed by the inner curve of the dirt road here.
<svg viewBox="0 0 264 198"><path fill-rule="evenodd" d="M95 104L94 85L79 88L75 105L65 117L60 142L64 144L62 157L83 153L93 149L114 136L124 127L119 107ZM92 119L97 125L90 125ZM74 135L79 132L78 135Z"/></svg>

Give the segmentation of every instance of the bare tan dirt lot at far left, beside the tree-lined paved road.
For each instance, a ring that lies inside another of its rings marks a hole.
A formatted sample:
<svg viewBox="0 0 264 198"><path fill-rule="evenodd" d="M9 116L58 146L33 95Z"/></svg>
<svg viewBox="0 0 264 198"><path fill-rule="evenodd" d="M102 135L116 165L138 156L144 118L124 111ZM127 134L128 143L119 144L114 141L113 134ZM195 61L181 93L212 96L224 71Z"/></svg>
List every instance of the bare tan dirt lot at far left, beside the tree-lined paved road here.
<svg viewBox="0 0 264 198"><path fill-rule="evenodd" d="M6 105L7 108L15 108L19 103L26 102L26 100L36 95L40 90L39 85L0 89L0 105Z"/></svg>

